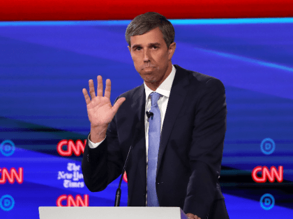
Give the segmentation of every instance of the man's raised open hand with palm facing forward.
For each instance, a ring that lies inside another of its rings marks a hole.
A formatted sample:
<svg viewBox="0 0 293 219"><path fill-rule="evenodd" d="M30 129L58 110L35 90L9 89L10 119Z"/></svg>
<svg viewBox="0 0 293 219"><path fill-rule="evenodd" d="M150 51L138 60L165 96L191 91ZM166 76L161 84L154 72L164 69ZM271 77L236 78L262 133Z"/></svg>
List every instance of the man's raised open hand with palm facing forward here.
<svg viewBox="0 0 293 219"><path fill-rule="evenodd" d="M111 95L111 81L106 80L105 96L103 97L103 79L98 75L98 88L97 95L93 86L93 80L89 80L89 97L87 89L83 88L84 99L87 102L87 115L89 122L91 122L91 140L96 141L105 138L105 131L108 124L112 121L114 115L117 113L118 108L126 100L121 97L112 106L110 102ZM103 139L102 139L103 140Z"/></svg>

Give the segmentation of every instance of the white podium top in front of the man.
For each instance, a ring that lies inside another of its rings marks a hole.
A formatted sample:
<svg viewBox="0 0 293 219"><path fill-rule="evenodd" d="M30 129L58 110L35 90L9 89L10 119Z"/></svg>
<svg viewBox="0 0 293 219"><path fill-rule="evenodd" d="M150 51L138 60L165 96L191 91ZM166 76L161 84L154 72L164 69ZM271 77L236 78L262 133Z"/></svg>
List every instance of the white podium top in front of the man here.
<svg viewBox="0 0 293 219"><path fill-rule="evenodd" d="M187 219L179 207L40 206L40 219Z"/></svg>

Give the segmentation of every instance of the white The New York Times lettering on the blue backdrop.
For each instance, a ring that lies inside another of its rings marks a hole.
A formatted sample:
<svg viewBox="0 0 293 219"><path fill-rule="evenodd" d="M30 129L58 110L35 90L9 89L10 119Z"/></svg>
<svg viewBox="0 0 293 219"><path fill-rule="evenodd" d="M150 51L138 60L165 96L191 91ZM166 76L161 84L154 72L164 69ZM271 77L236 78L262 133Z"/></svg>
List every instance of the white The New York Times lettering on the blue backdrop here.
<svg viewBox="0 0 293 219"><path fill-rule="evenodd" d="M84 188L84 175L80 165L67 163L67 171L58 172L58 180L63 180L64 188Z"/></svg>

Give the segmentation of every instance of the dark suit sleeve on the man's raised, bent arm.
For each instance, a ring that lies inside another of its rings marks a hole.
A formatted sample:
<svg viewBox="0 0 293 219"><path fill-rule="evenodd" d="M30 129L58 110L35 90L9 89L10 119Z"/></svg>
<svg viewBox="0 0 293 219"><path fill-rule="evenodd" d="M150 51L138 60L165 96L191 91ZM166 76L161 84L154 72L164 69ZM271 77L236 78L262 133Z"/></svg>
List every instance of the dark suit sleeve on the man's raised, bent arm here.
<svg viewBox="0 0 293 219"><path fill-rule="evenodd" d="M96 148L87 145L82 158L84 183L91 192L104 190L108 184L121 175L123 160L116 128L116 115L110 122L106 138Z"/></svg>

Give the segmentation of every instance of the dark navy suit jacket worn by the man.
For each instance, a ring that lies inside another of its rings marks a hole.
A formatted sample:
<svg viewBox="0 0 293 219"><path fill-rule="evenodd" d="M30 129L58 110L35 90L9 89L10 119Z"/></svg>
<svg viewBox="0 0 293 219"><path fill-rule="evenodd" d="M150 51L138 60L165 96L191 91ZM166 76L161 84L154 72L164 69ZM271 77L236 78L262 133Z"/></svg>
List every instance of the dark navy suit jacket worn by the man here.
<svg viewBox="0 0 293 219"><path fill-rule="evenodd" d="M178 65L163 128L156 177L160 206L180 206L206 218L215 200L223 199L218 183L226 131L225 88L220 80ZM128 206L145 206L147 190L144 131L144 84L126 97L97 148L84 149L82 172L89 190L104 190L126 168ZM135 130L138 128L138 131Z"/></svg>

